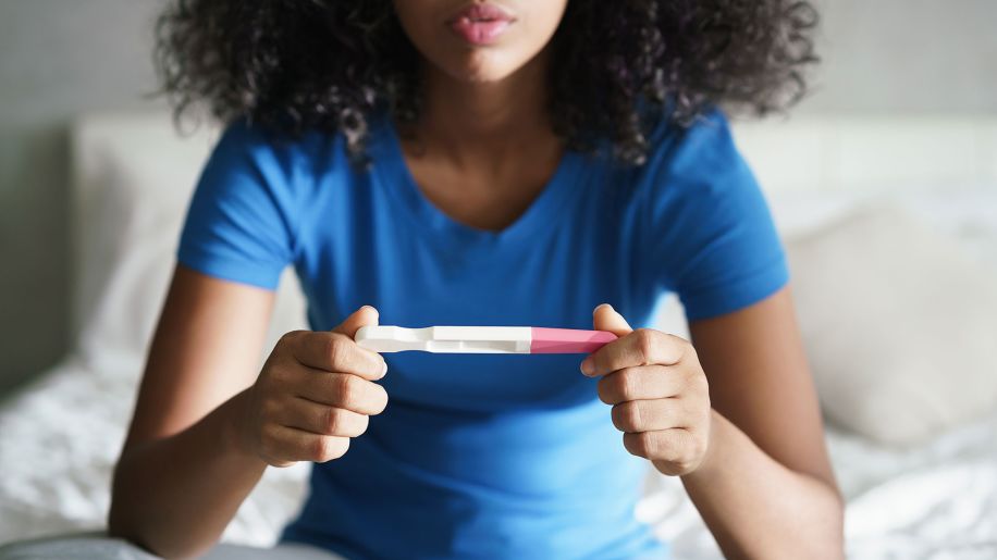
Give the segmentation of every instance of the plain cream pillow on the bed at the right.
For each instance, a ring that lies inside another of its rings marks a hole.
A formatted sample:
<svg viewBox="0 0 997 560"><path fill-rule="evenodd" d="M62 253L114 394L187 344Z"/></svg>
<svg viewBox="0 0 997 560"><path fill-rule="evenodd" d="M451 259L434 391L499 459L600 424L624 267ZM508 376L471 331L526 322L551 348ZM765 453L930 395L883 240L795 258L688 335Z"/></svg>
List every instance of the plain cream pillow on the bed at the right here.
<svg viewBox="0 0 997 560"><path fill-rule="evenodd" d="M833 422L907 445L997 405L997 275L953 240L878 204L786 247Z"/></svg>

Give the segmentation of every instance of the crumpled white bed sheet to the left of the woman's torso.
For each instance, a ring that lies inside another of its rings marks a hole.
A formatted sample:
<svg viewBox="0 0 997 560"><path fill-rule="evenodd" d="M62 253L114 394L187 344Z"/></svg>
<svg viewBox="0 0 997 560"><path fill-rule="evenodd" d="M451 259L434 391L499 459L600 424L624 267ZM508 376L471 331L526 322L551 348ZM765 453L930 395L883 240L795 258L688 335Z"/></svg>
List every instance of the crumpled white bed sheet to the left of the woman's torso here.
<svg viewBox="0 0 997 560"><path fill-rule="evenodd" d="M0 543L104 526L140 363L70 359L0 407ZM304 496L305 463L268 469L225 540L269 545Z"/></svg>

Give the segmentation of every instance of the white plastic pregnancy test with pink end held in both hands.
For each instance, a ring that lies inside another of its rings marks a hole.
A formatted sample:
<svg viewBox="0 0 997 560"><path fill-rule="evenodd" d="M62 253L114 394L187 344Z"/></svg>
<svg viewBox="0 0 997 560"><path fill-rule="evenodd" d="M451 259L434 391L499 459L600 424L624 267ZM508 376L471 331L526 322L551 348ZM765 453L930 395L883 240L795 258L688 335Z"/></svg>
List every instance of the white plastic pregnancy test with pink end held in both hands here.
<svg viewBox="0 0 997 560"><path fill-rule="evenodd" d="M354 337L376 352L421 350L436 353L591 353L616 335L607 331L538 326L361 326Z"/></svg>

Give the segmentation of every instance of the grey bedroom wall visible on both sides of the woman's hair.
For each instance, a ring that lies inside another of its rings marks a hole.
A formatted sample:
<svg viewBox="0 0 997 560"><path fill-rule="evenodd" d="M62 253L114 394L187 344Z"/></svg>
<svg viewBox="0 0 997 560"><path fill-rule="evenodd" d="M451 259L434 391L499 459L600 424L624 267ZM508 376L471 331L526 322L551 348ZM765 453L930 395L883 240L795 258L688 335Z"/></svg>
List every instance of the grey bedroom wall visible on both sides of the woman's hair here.
<svg viewBox="0 0 997 560"><path fill-rule="evenodd" d="M997 2L818 0L801 113L997 114ZM153 108L162 0L0 0L0 394L69 348L67 139L84 111Z"/></svg>

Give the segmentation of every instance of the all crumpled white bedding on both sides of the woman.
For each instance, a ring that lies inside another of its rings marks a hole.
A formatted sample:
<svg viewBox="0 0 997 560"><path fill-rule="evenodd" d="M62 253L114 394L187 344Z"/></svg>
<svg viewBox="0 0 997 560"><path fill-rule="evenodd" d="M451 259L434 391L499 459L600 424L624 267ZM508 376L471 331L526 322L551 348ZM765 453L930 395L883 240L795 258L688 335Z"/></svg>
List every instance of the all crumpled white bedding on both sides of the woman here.
<svg viewBox="0 0 997 560"><path fill-rule="evenodd" d="M136 365L98 374L71 359L0 407L0 543L102 525ZM912 450L833 427L828 445L848 499L850 558L997 558L997 411ZM306 475L305 464L268 470L224 540L273 543ZM677 481L649 475L638 515L676 558L719 557Z"/></svg>

